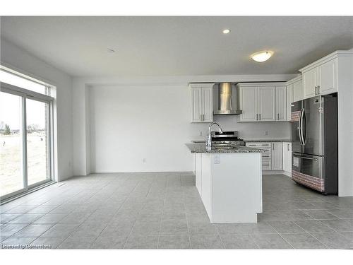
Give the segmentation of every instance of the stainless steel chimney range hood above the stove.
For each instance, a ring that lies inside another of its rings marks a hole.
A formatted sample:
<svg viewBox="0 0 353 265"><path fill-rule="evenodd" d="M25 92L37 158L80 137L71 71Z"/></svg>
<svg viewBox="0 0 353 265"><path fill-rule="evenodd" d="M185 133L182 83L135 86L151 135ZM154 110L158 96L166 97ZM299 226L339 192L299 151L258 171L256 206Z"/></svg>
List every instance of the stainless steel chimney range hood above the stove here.
<svg viewBox="0 0 353 265"><path fill-rule="evenodd" d="M242 111L237 109L237 104L233 106L232 83L220 83L220 101L218 110L214 110L214 115L239 115Z"/></svg>

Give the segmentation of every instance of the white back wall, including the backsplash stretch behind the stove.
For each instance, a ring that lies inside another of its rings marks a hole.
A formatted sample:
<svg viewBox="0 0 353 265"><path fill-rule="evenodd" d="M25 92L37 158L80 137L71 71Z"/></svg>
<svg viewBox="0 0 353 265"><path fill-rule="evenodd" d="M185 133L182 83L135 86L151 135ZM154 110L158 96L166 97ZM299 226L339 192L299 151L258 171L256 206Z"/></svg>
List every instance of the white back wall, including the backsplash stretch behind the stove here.
<svg viewBox="0 0 353 265"><path fill-rule="evenodd" d="M190 123L188 86L92 86L88 93L91 172L192 170L185 143L204 139L208 124ZM237 123L235 116L215 121L244 138L289 138L288 122Z"/></svg>

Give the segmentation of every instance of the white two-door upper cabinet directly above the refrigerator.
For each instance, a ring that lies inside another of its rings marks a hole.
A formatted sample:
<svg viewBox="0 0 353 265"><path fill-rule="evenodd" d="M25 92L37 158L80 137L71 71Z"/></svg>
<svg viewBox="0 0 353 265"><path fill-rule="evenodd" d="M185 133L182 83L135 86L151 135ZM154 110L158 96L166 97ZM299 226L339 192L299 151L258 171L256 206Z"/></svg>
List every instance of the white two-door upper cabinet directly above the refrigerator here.
<svg viewBox="0 0 353 265"><path fill-rule="evenodd" d="M337 58L334 52L299 70L303 73L304 98L337 92Z"/></svg>

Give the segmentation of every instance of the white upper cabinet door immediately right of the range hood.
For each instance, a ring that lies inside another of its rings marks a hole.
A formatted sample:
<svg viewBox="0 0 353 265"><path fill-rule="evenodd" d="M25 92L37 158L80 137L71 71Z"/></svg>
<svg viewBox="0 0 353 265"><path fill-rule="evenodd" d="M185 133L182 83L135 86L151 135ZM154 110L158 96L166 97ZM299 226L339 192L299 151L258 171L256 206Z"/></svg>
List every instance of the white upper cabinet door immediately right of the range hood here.
<svg viewBox="0 0 353 265"><path fill-rule="evenodd" d="M256 86L239 88L239 105L243 113L240 122L256 122L258 113L258 88Z"/></svg>

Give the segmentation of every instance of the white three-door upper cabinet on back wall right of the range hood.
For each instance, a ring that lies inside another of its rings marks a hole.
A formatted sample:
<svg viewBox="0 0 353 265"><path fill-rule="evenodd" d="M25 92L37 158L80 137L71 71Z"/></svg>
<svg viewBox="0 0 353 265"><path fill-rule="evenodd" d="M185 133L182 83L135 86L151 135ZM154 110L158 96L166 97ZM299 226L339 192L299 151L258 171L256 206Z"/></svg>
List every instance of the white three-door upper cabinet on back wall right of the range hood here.
<svg viewBox="0 0 353 265"><path fill-rule="evenodd" d="M239 122L287 120L287 91L284 83L238 83Z"/></svg>

